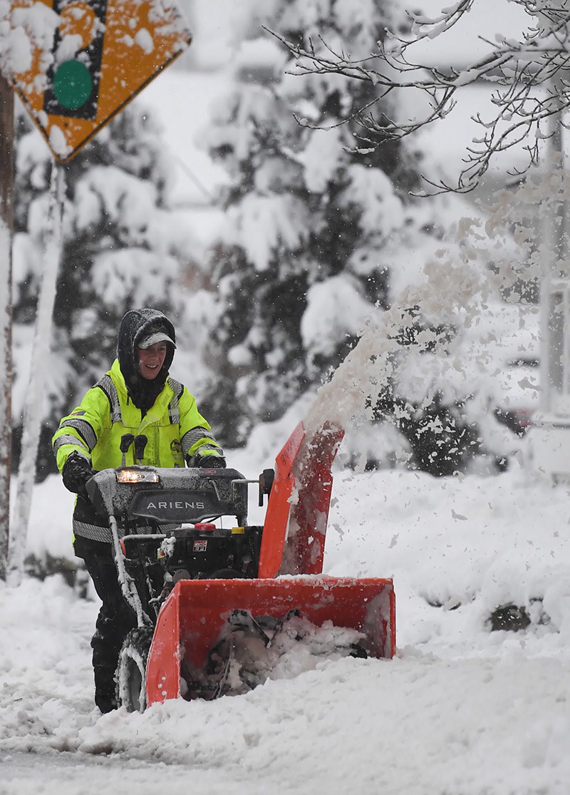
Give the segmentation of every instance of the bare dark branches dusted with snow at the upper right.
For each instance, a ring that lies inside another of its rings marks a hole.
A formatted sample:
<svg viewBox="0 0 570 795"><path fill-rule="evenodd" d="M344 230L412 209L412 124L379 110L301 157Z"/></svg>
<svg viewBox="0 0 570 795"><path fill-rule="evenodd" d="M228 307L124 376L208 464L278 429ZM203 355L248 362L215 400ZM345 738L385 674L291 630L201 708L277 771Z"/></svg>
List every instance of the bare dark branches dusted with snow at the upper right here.
<svg viewBox="0 0 570 795"><path fill-rule="evenodd" d="M360 129L359 148L365 150L404 138L444 118L455 107L463 87L482 80L491 83L494 111L490 118L480 114L472 117L481 134L467 147L457 183L426 180L436 192L463 193L479 184L491 159L505 149L522 146L527 154L525 166L514 174L520 175L536 163L541 141L551 134L545 122L570 107L570 3L567 0L514 0L529 14L525 33L518 40L503 36L494 37L494 41L482 39L489 52L462 68L434 66L413 57L415 45L420 42L425 45L427 39L436 40L448 33L475 2L459 0L436 18L408 14L406 37L386 31L386 36L378 41L378 49L358 59L336 52L322 39L299 43L288 41L280 33L271 30L269 33L293 56L291 74L333 74L374 86L374 99L341 122L356 122ZM436 41L432 47L437 47ZM427 102L413 103L422 110L415 118L401 121L384 100L390 95L390 107L397 107L397 99L405 91L416 95L419 92ZM320 122L306 118L298 117L297 121L303 126L321 126Z"/></svg>

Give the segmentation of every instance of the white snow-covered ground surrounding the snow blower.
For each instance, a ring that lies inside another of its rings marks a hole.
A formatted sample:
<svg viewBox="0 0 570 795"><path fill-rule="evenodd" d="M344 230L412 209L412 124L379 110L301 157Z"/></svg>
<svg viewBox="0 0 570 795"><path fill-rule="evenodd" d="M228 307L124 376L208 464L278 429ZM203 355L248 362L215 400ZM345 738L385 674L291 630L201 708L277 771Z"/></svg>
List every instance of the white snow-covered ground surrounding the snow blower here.
<svg viewBox="0 0 570 795"><path fill-rule="evenodd" d="M70 496L37 487L30 550L71 556ZM335 471L325 568L394 576L394 660L320 661L142 715L92 707L95 601L59 576L0 584L0 793L566 795L569 498L516 463L494 478ZM532 623L491 631L510 602Z"/></svg>

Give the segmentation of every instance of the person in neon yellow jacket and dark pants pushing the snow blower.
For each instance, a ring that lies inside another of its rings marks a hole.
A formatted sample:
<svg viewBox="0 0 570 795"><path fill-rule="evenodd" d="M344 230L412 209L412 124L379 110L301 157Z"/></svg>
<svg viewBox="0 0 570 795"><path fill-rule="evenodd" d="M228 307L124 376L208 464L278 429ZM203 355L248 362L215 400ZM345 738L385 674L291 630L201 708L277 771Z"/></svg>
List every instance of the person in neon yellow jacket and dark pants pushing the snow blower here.
<svg viewBox="0 0 570 795"><path fill-rule="evenodd" d="M64 486L77 494L74 550L85 561L103 603L91 640L95 704L101 712L117 706L118 654L136 621L118 584L111 530L87 497L87 480L95 471L120 466L119 445L125 433L147 436L142 459L146 465L226 466L223 450L194 397L169 377L175 349L173 324L162 312L149 308L127 312L118 330L117 359L111 370L63 418L52 440Z"/></svg>

